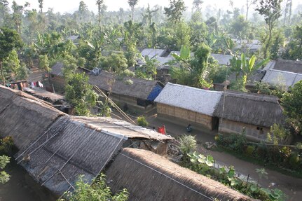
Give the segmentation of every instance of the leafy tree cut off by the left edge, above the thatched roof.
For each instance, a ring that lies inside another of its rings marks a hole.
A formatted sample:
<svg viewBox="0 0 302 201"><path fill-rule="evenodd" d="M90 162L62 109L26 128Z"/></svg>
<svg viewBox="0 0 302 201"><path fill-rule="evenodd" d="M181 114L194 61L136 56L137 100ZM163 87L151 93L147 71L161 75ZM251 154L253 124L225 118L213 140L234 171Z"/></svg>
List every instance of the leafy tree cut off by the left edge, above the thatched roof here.
<svg viewBox="0 0 302 201"><path fill-rule="evenodd" d="M17 32L5 27L0 28L0 71L2 76L2 83L5 85L4 69L2 62L8 57L15 48L21 48L22 41Z"/></svg>

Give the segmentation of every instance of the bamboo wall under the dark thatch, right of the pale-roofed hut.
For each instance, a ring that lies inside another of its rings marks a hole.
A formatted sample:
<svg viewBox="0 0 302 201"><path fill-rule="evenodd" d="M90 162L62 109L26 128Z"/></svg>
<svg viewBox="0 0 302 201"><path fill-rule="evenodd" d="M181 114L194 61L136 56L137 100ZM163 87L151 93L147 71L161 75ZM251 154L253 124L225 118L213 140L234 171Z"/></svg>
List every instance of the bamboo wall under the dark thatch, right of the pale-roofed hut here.
<svg viewBox="0 0 302 201"><path fill-rule="evenodd" d="M241 134L245 128L245 134L249 139L266 139L266 134L270 131L268 127L250 125L246 123L235 122L232 120L219 120L219 131L226 133Z"/></svg>

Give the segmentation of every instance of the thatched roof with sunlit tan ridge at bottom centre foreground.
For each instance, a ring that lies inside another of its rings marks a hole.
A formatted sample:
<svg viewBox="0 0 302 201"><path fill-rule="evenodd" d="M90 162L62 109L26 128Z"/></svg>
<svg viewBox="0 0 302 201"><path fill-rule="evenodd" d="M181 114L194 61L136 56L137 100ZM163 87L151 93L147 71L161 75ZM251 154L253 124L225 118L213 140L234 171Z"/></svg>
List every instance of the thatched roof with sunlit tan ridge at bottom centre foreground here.
<svg viewBox="0 0 302 201"><path fill-rule="evenodd" d="M114 192L129 200L253 200L150 151L123 148L106 171Z"/></svg>

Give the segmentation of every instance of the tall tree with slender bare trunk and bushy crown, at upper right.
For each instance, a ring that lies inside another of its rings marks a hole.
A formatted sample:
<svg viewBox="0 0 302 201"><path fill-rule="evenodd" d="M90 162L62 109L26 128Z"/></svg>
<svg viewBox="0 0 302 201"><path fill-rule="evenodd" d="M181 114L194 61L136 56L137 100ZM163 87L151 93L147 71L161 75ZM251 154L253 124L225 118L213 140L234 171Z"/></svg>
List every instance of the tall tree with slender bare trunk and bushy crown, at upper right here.
<svg viewBox="0 0 302 201"><path fill-rule="evenodd" d="M256 11L263 15L266 25L268 25L268 35L266 36L266 44L264 46L264 58L268 57L268 50L272 39L273 29L277 20L281 17L281 3L283 0L260 0Z"/></svg>

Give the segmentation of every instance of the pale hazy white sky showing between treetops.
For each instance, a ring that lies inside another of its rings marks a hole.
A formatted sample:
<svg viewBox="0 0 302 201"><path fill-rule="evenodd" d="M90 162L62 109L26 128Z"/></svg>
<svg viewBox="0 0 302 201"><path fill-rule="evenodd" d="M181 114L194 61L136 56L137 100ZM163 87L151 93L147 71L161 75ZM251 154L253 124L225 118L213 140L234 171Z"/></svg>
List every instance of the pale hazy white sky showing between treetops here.
<svg viewBox="0 0 302 201"><path fill-rule="evenodd" d="M17 4L25 4L26 0L15 0ZM47 11L48 8L54 8L55 12L65 13L74 12L78 10L78 5L81 0L44 0L43 11ZM83 0L88 6L90 11L97 13L97 6L95 5L95 0ZM223 8L224 10L229 9L229 0L203 0L203 8L207 5L211 5L217 9ZM8 2L13 2L13 0L8 0ZM31 4L30 8L39 9L38 0L27 0ZM137 7L146 7L147 4L154 6L156 4L160 6L168 6L168 0L139 0ZM186 6L191 10L193 0L184 0ZM233 0L234 6L241 8L245 4L245 0ZM107 11L118 11L119 8L128 9L128 0L104 0L104 4L108 6ZM298 4L302 4L302 0L293 0L293 8L296 8Z"/></svg>

